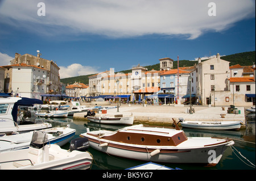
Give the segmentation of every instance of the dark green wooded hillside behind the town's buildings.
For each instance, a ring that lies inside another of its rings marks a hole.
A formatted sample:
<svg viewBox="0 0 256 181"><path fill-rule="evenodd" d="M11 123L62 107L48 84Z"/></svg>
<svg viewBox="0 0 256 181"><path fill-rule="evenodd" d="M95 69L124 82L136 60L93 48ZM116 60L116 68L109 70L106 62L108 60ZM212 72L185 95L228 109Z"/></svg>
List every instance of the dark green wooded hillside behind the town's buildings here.
<svg viewBox="0 0 256 181"><path fill-rule="evenodd" d="M255 51L230 54L228 56L222 56L221 59L229 61L230 66L236 65L236 64L240 64L242 66L244 66L244 65L253 65L253 62L255 62ZM203 61L205 61L205 60L203 60ZM195 64L197 64L197 61L190 61L190 60L180 60L179 61L179 67L193 66ZM148 66L144 66L144 67L147 68L148 70L152 70L152 69L159 70L159 64L148 65ZM177 61L174 61L174 69L177 69ZM131 69L122 70L120 72L129 73L129 72L131 72ZM93 75L93 74L90 74L90 75ZM67 85L67 83L72 84L72 83L75 83L75 82L81 82L81 83L88 84L89 83L89 78L88 77L90 75L80 75L80 76L77 76L77 77L63 78L63 79L60 79L60 82L65 83L66 85Z"/></svg>

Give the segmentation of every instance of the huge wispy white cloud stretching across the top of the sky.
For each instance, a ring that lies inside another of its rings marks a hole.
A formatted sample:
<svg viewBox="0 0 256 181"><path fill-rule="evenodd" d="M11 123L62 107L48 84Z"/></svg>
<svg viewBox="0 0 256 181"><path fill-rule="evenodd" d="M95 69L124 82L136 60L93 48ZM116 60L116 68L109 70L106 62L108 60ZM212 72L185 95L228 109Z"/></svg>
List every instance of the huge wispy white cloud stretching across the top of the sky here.
<svg viewBox="0 0 256 181"><path fill-rule="evenodd" d="M11 22L11 18L16 20L15 26L20 23L27 30L46 35L93 33L133 37L157 33L196 39L205 31L223 31L233 23L255 16L254 0L215 0L216 16L208 15L210 1L205 0L41 2L46 5L46 16L37 15L36 1L4 1L0 11L5 17L2 22ZM42 26L36 28L39 25Z"/></svg>

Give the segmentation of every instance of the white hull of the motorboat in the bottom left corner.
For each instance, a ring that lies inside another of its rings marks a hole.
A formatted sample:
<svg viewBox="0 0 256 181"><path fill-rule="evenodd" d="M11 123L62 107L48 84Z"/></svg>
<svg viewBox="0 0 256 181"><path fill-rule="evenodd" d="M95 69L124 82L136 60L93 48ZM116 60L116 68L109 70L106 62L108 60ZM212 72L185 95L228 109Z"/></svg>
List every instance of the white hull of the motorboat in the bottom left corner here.
<svg viewBox="0 0 256 181"><path fill-rule="evenodd" d="M4 170L86 170L92 165L92 157L89 152L74 150L68 152L57 145L49 148L49 161L38 162L38 159L28 157L29 149L8 151L1 153L0 163ZM20 161L26 159L25 161ZM34 165L31 165L30 161Z"/></svg>

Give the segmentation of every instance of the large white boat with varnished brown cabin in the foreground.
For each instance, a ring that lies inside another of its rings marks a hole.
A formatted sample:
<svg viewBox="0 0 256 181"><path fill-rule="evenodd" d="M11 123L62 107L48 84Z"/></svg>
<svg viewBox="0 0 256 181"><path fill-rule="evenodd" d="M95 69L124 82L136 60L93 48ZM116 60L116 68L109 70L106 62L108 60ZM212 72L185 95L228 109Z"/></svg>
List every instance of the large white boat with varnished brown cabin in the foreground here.
<svg viewBox="0 0 256 181"><path fill-rule="evenodd" d="M89 131L88 128L80 136L88 138L92 148L118 157L209 166L217 165L226 148L234 144L229 138L187 137L182 130L142 124L117 131Z"/></svg>

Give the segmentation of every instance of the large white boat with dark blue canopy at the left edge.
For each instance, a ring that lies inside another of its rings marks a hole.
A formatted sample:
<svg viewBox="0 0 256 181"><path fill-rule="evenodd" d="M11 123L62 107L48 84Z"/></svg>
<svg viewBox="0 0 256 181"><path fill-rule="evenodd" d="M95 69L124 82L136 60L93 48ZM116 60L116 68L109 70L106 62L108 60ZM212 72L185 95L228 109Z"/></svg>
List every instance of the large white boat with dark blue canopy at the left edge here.
<svg viewBox="0 0 256 181"><path fill-rule="evenodd" d="M39 99L0 98L0 136L51 128L51 124L42 123L42 120L36 119L34 111L20 111L22 106L42 103L42 100Z"/></svg>

